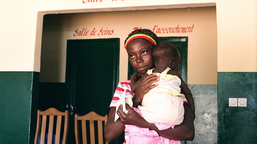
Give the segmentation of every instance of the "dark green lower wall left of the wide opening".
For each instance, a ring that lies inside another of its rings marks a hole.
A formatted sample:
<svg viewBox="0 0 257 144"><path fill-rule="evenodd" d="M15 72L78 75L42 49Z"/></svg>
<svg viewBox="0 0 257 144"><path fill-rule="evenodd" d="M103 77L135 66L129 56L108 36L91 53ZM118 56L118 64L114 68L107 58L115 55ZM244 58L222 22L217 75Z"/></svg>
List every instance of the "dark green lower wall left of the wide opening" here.
<svg viewBox="0 0 257 144"><path fill-rule="evenodd" d="M38 72L0 72L1 144L33 143L38 83Z"/></svg>

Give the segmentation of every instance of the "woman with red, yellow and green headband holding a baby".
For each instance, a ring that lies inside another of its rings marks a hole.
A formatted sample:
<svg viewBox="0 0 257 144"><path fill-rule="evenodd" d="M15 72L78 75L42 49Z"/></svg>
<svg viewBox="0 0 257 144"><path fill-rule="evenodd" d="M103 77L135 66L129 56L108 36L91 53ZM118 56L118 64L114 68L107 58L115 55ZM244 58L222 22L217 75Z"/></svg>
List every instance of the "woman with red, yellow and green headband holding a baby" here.
<svg viewBox="0 0 257 144"><path fill-rule="evenodd" d="M133 36L132 36L133 35ZM130 89L130 80L122 81L119 83L113 100L110 104L110 112L106 125L104 127L105 139L107 142L111 142L116 139L125 130L125 125L135 125L140 128L149 128L158 133L160 137L173 140L190 140L194 139L194 123L193 115L188 103L184 103L184 121L180 125L176 125L175 128L169 128L165 130L158 130L158 128L151 123L145 121L136 111L126 104L128 114L125 114L121 107L119 107L117 114L119 119L114 122L116 112L116 102L121 97L121 94L125 91L126 97L133 97L133 107L137 107L143 99L144 94L149 90L156 87L152 85L159 80L159 76L151 74L146 77L143 76L148 69L154 67L152 59L152 48L158 43L158 37L151 30L138 29L130 33L125 40L125 48L128 53L129 61L132 67L140 74L140 86L137 87L136 93L133 93ZM125 142L129 137L129 133L125 132Z"/></svg>

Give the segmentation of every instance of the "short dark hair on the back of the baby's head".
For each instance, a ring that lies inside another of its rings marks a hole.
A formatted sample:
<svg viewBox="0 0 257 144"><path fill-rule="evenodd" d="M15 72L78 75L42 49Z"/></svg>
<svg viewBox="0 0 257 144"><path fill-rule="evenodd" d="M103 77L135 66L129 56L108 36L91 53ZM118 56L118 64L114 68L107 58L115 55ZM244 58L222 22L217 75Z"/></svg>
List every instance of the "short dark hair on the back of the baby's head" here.
<svg viewBox="0 0 257 144"><path fill-rule="evenodd" d="M177 48L169 42L160 42L155 45L152 51L153 60L160 62L161 59L169 60L173 58L174 61L180 60L180 54Z"/></svg>

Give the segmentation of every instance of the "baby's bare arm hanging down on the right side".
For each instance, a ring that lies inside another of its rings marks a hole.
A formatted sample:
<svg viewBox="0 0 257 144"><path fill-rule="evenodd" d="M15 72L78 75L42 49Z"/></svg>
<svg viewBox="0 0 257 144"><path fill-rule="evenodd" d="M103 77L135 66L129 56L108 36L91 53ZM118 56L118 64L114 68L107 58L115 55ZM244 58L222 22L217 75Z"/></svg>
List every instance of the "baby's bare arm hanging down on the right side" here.
<svg viewBox="0 0 257 144"><path fill-rule="evenodd" d="M196 118L196 116L195 116L195 103L194 103L193 95L192 95L190 89L188 88L188 86L184 82L184 80L182 79L182 76L180 75L179 72L170 70L168 72L168 74L176 75L181 79L181 85L180 85L181 92L185 95L186 99L188 100L190 109L191 109L192 114L193 114L193 118L195 119Z"/></svg>

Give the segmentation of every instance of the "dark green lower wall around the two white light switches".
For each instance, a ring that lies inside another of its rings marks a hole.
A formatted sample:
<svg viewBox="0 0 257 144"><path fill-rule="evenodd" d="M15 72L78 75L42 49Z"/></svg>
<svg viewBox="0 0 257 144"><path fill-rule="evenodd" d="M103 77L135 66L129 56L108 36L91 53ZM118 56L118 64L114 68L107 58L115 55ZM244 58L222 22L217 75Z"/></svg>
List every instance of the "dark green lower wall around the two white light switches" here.
<svg viewBox="0 0 257 144"><path fill-rule="evenodd" d="M247 107L229 107L247 98ZM257 143L257 72L218 72L218 144Z"/></svg>

